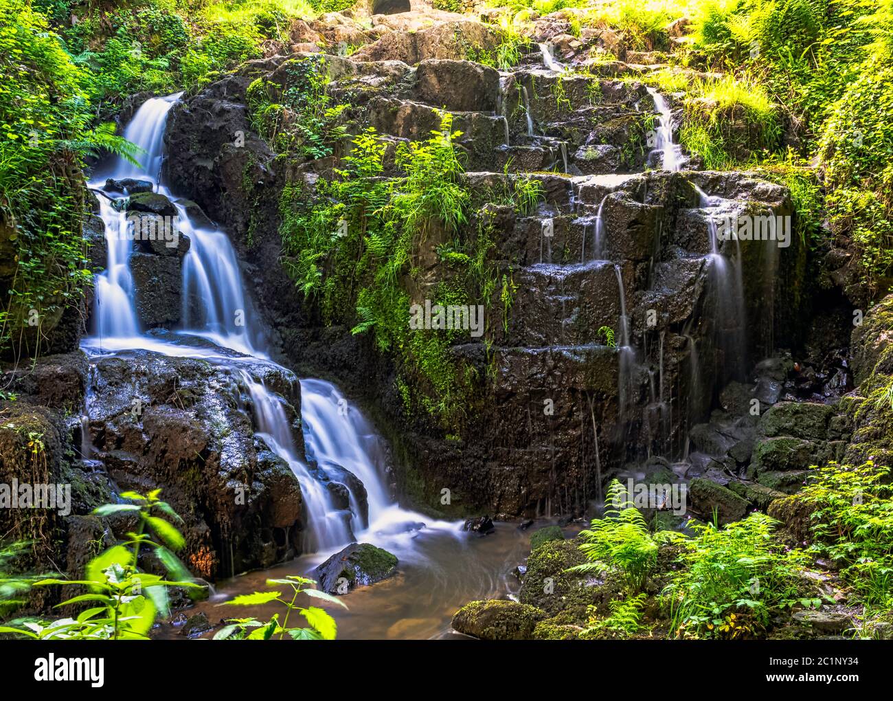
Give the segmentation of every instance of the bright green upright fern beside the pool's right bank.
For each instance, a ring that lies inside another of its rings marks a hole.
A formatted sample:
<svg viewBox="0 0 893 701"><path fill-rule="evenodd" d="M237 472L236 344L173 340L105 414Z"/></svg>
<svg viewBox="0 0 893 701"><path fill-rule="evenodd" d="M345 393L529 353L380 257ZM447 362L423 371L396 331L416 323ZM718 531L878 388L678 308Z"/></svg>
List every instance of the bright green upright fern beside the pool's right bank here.
<svg viewBox="0 0 893 701"><path fill-rule="evenodd" d="M613 570L635 593L645 587L654 572L660 544L679 537L671 531L651 534L626 488L618 480L611 480L605 497L605 518L594 519L588 530L580 531L585 541L580 550L588 563L576 565L570 572Z"/></svg>

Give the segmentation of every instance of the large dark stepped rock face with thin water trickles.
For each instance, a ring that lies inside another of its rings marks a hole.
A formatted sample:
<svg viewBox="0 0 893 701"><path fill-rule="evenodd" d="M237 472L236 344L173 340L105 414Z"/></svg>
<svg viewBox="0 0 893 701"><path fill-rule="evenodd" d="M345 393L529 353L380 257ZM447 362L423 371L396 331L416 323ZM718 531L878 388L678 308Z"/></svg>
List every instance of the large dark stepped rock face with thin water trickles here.
<svg viewBox="0 0 893 701"><path fill-rule="evenodd" d="M559 59L598 46L619 50L604 32L577 41L553 25L544 23L538 40L554 38ZM334 161L287 168L275 160L251 130L246 88L259 78L287 88L289 61L305 54L249 62L174 106L166 168L177 191L221 223L256 271L249 275L255 298L283 339L283 355L382 407L384 432L412 465L397 480L407 501L443 511L440 493L450 488L457 498L447 510L455 514L581 513L599 480L630 456L681 455L691 426L709 414L714 387L742 380L773 343L794 343L789 330L803 316L802 300L788 292L801 280L805 251L797 241L772 250L763 241L722 241L722 253L741 266L742 308L731 310L711 258L708 217L788 215L787 190L749 173L641 172L654 161L647 146L654 101L643 84L616 74L644 69L593 66L591 77L563 75L543 71L542 56L531 52L500 78L464 60L455 42L462 36L492 50L489 32L479 22L446 21L385 32L349 58L325 59L330 96L350 105L353 129L372 126L388 142L386 168L393 170L394 145L428 138L446 108L463 132L456 142L468 171L463 182L483 203L512 192L521 171L541 186L536 211L484 204L470 224L488 218L497 238L491 263L517 292L508 313L499 299L485 310L488 351L473 338L453 348L487 378L458 440L425 421L407 425L388 359L367 338L324 329L319 310L281 270L280 190L293 181L312 192ZM560 172L530 174L553 168ZM601 172L611 174L587 177ZM696 185L721 203L705 209ZM419 299L448 277L436 255L442 243L431 235L419 251ZM747 320L760 320L757 332L744 332ZM764 391L772 395L771 383ZM736 468L747 467L752 435L734 443Z"/></svg>

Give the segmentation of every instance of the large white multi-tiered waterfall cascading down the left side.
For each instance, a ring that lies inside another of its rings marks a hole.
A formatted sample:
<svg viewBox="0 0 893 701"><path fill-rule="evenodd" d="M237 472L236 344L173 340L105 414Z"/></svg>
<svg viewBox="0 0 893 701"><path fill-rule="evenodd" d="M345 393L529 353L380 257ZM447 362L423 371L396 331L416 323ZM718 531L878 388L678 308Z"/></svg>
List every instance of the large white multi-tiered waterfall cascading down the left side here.
<svg viewBox="0 0 893 701"><path fill-rule="evenodd" d="M179 229L188 236L190 247L183 261L183 322L179 333L207 338L218 346L270 362L256 347L258 338L255 314L248 308L238 259L230 239L221 230L203 228L193 221L183 204L158 179L163 158L163 136L167 113L177 96L152 98L138 110L125 131L146 152L145 167L136 167L114 159L103 171L103 178L151 180L160 194L167 196L179 213ZM91 183L101 188L104 179ZM238 359L204 348L193 348L159 341L141 335L134 312L133 280L129 269L132 241L125 235L123 213L102 192L97 192L100 216L108 242L106 269L96 276L96 331L104 338L117 338L116 347L146 348L166 355L190 355L227 363L248 390L255 417L257 435L285 460L301 486L305 508L305 551L332 550L356 537L380 542L397 550L410 548L413 533L425 524L420 514L406 512L388 496L384 474L384 449L381 439L347 403L337 388L321 380L302 380L302 423L308 461L301 459L280 396L238 367ZM85 339L87 350L95 349ZM81 453L86 458L89 446L89 404L81 419ZM316 467L313 466L316 463ZM335 483L348 492L347 508L336 504ZM361 507L368 504L368 513ZM455 532L455 524L425 519L430 530ZM407 541L409 538L409 541Z"/></svg>

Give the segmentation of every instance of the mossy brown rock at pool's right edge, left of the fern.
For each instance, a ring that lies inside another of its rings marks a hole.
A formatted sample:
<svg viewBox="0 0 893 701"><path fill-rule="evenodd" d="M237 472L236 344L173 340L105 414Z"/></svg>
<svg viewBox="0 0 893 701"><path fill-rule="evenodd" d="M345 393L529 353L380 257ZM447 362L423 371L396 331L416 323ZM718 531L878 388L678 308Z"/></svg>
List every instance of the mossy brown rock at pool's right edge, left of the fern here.
<svg viewBox="0 0 893 701"><path fill-rule="evenodd" d="M536 606L553 616L567 613L568 622L585 622L597 588L588 586L586 575L566 572L569 567L585 562L579 540L543 543L527 559L527 573L519 593L521 603Z"/></svg>

